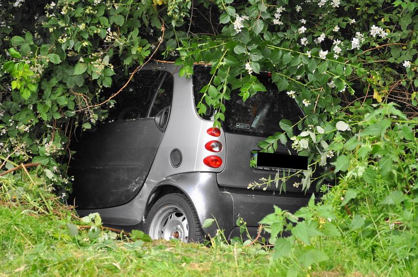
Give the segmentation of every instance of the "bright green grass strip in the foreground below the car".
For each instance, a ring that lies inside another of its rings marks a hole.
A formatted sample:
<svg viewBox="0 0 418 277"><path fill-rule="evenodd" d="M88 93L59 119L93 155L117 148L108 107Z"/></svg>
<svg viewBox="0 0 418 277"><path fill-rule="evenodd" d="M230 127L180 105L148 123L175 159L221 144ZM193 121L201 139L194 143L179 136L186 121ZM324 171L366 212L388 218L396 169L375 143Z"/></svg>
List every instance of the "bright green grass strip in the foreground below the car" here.
<svg viewBox="0 0 418 277"><path fill-rule="evenodd" d="M91 243L87 231L73 237L69 211L38 215L24 207L0 206L0 276L286 276L286 260L271 260L258 247L178 242ZM342 243L323 245L330 257L303 276L414 276L417 265L393 267Z"/></svg>

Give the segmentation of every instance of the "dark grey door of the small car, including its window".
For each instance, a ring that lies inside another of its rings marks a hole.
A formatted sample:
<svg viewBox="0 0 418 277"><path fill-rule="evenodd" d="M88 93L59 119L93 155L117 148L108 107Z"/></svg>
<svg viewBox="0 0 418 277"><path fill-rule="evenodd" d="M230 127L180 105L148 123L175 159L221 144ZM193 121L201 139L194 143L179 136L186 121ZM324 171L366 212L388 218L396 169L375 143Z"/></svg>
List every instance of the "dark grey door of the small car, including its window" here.
<svg viewBox="0 0 418 277"><path fill-rule="evenodd" d="M169 73L141 71L114 98L107 122L73 138L71 201L78 208L119 206L141 190L164 134L172 95Z"/></svg>

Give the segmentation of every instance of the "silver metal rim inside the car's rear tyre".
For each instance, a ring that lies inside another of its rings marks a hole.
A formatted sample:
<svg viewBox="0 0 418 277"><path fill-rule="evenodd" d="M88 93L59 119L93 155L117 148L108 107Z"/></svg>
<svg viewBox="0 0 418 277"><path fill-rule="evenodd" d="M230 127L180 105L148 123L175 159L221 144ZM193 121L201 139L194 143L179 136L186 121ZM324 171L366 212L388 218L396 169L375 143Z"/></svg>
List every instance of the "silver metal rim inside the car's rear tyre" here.
<svg viewBox="0 0 418 277"><path fill-rule="evenodd" d="M161 207L149 224L149 236L153 240L180 240L187 242L189 225L179 206L168 204Z"/></svg>

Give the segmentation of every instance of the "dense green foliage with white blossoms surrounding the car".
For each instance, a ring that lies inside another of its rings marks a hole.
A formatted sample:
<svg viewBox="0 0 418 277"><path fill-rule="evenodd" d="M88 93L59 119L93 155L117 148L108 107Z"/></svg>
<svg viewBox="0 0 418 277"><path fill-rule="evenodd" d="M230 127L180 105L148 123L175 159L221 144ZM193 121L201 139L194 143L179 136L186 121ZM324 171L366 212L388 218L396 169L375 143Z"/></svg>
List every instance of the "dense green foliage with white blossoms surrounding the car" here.
<svg viewBox="0 0 418 277"><path fill-rule="evenodd" d="M256 186L307 188L321 167L316 181L328 192L319 205L295 215L276 209L262 222L275 257L295 262L290 273L303 272L328 259L323 240L342 238L388 264L416 258L415 1L16 0L0 8L2 167L40 163L31 172L36 185L69 189L74 126L105 119L120 84L150 58L175 60L186 76L195 62L212 64L198 110L214 107L215 125L231 93L244 100L263 93L253 73L270 71L306 117L280 120L259 146L273 152L290 139L310 169L299 172L301 184L277 175ZM335 172L339 185L331 187ZM292 236L275 239L283 230Z"/></svg>

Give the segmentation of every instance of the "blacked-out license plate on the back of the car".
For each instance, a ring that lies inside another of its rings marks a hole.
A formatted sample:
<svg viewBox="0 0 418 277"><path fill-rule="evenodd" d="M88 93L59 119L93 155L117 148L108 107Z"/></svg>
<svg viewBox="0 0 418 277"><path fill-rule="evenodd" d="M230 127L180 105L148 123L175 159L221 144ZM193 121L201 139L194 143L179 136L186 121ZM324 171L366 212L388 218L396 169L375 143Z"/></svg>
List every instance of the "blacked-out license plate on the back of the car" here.
<svg viewBox="0 0 418 277"><path fill-rule="evenodd" d="M308 157L264 152L258 152L256 155L258 169L290 169L292 171L308 169Z"/></svg>

